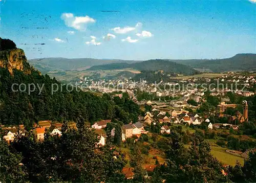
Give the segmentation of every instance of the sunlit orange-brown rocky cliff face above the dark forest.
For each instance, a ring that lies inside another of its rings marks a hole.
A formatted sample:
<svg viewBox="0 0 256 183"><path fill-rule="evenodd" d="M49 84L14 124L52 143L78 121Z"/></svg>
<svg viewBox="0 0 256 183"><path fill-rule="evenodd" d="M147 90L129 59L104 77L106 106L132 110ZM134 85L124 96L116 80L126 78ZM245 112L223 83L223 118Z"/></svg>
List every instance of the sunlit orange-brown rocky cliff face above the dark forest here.
<svg viewBox="0 0 256 183"><path fill-rule="evenodd" d="M0 67L7 68L12 74L13 69L30 73L31 68L22 49L0 51Z"/></svg>

